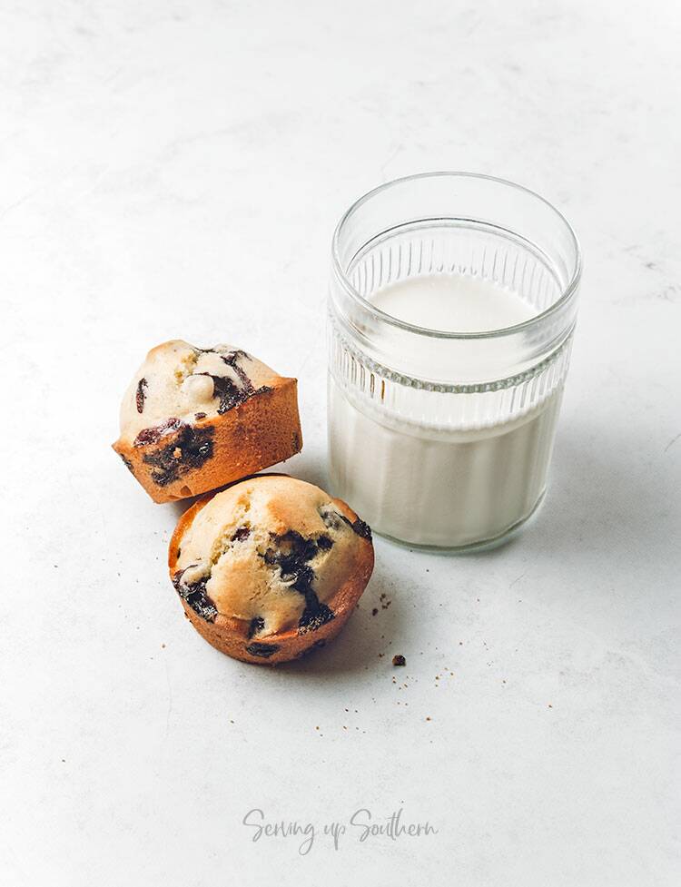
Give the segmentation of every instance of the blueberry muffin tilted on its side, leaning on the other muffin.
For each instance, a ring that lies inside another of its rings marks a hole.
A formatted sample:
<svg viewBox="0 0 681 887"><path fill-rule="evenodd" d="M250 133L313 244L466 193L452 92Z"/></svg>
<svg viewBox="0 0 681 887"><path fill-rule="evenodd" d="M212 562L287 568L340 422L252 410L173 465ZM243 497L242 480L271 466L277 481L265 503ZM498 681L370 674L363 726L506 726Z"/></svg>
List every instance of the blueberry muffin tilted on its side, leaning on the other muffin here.
<svg viewBox="0 0 681 887"><path fill-rule="evenodd" d="M302 446L296 379L231 345L163 342L121 405L114 450L153 498L196 496L268 468Z"/></svg>

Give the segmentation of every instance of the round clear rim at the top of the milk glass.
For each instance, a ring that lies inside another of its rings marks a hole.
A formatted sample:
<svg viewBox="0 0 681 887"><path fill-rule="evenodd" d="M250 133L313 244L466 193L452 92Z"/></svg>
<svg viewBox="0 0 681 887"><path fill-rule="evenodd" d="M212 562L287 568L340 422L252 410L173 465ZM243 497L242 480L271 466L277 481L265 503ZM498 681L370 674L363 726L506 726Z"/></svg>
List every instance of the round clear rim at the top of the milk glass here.
<svg viewBox="0 0 681 887"><path fill-rule="evenodd" d="M528 196L533 197L538 201L544 203L551 212L558 216L558 219L565 225L568 236L570 237L572 245L575 249L575 263L568 284L562 288L560 297L552 305L549 305L547 309L540 311L533 317L528 318L528 320L522 320L520 323L512 324L509 327L502 327L498 330L459 332L457 330L434 330L429 327L420 327L417 324L409 323L407 320L400 320L400 318L394 317L387 311L377 308L376 305L374 305L368 299L365 299L364 296L360 295L360 292L357 291L350 282L350 279L341 264L341 251L339 248L339 243L341 241L341 234L346 222L348 222L353 212L358 210L360 206L362 206L364 203L370 201L372 197L380 194L380 192L387 191L395 185L401 184L403 182L414 182L417 179L434 179L438 176L446 176L449 178L459 179L481 179L487 182L495 182L499 185L505 185L510 188L515 188L517 191L523 192L524 194L527 194ZM526 188L524 185L518 184L518 182L511 182L509 179L501 179L498 176L487 175L484 172L456 172L449 170L438 170L434 172L414 172L411 175L403 175L400 176L400 178L391 179L390 182L383 182L376 188L372 188L371 191L362 194L361 197L350 204L350 207L341 216L341 221L338 222L338 224L336 225L336 229L333 232L333 238L331 240L331 260L333 269L336 272L339 281L341 281L341 284L345 291L347 291L350 297L354 301L357 301L362 308L364 308L365 310L369 310L370 314L373 314L379 320L390 323L390 325L400 328L400 330L406 330L407 332L416 333L419 336L429 336L433 339L445 340L498 339L504 336L512 335L516 332L522 332L524 330L531 329L542 320L545 320L556 311L560 310L574 296L575 292L577 291L577 286L579 285L582 274L582 251L579 246L579 241L577 240L577 234L575 233L572 225L568 222L568 219L563 215L562 212L560 212L560 210L558 210L553 205L553 203L549 202L545 197L542 197L541 194L538 194L536 191L532 191L531 189Z"/></svg>

